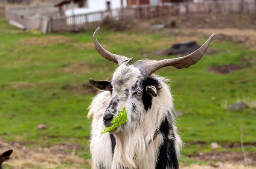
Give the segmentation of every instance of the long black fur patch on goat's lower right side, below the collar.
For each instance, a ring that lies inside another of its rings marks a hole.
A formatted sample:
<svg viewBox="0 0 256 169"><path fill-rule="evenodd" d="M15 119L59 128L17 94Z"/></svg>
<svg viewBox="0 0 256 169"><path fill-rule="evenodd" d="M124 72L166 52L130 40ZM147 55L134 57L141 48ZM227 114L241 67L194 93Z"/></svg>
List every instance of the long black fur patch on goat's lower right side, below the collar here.
<svg viewBox="0 0 256 169"><path fill-rule="evenodd" d="M175 140L169 139L172 134L172 124L169 124L168 118L160 126L160 134L163 135L163 144L158 154L157 166L155 169L179 169L179 161L176 155ZM175 135L172 135L175 137Z"/></svg>

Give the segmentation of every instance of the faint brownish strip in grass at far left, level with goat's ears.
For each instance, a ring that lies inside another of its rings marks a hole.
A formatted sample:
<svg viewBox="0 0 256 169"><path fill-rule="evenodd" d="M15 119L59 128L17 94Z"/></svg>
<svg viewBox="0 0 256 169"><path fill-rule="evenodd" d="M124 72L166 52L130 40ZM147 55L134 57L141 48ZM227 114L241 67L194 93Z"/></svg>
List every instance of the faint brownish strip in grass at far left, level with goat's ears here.
<svg viewBox="0 0 256 169"><path fill-rule="evenodd" d="M13 89L21 89L26 87L39 87L53 85L53 82L11 82L10 85Z"/></svg>

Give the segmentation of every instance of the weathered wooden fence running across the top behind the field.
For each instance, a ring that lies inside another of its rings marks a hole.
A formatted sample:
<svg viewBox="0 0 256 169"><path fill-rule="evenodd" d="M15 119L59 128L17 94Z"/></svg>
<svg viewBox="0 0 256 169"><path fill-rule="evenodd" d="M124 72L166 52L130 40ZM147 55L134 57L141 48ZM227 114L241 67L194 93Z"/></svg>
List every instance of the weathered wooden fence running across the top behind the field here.
<svg viewBox="0 0 256 169"><path fill-rule="evenodd" d="M43 6L41 8L46 8ZM49 7L52 8L52 7ZM204 3L164 3L151 6L143 5L136 7L116 8L108 11L97 11L87 14L73 16L55 16L55 17L29 17L21 15L12 8L6 9L6 19L15 20L26 26L26 29L40 29L47 32L79 30L92 28L95 24L108 21L117 21L121 19L151 19L159 17L172 17L191 14L252 14L256 13L256 0L250 1L209 1ZM33 8L33 11L36 9Z"/></svg>

